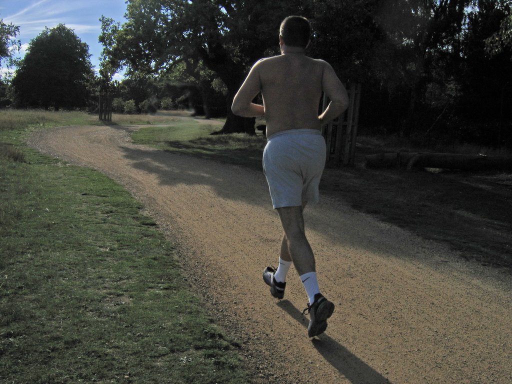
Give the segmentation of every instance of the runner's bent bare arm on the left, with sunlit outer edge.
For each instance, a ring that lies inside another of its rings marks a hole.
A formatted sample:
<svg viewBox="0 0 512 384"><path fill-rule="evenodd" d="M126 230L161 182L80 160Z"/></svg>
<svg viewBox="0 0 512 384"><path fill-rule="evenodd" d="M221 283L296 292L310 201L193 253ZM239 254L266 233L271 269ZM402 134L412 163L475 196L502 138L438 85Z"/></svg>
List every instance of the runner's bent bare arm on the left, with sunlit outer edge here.
<svg viewBox="0 0 512 384"><path fill-rule="evenodd" d="M264 116L265 109L263 105L252 102L261 90L260 74L258 70L258 62L251 68L242 87L234 96L231 111L235 115L243 117Z"/></svg>

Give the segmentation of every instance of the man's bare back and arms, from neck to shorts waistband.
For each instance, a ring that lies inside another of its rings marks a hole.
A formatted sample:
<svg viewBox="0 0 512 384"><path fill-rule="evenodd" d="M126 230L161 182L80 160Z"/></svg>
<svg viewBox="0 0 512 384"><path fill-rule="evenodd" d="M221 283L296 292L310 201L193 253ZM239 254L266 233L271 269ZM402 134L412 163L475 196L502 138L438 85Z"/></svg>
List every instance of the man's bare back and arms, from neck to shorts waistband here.
<svg viewBox="0 0 512 384"><path fill-rule="evenodd" d="M327 62L306 56L298 47L283 46L282 51L280 56L255 63L234 98L233 112L265 116L267 137L293 129L320 130L322 120L329 121L346 109L347 92ZM251 102L260 92L263 106ZM318 116L322 92L331 103Z"/></svg>

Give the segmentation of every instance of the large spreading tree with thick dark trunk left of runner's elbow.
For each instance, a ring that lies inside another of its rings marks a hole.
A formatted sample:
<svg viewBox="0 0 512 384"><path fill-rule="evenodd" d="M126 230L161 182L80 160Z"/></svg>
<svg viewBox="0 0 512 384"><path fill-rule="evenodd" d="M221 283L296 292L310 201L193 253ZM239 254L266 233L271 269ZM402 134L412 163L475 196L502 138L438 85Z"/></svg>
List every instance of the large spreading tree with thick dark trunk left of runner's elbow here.
<svg viewBox="0 0 512 384"><path fill-rule="evenodd" d="M162 73L178 62L201 62L226 87L227 119L221 133L254 133L254 119L234 116L234 94L259 58L278 48L281 20L304 13L304 2L243 0L129 0L126 23L103 19L108 66Z"/></svg>

